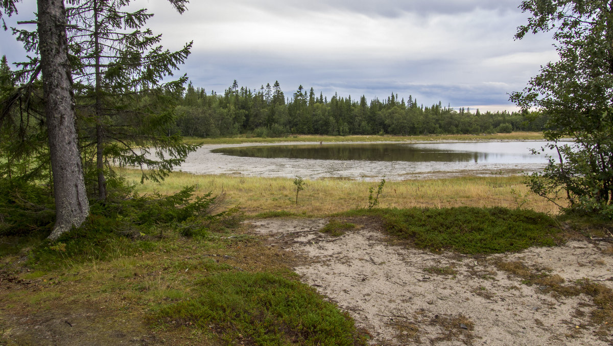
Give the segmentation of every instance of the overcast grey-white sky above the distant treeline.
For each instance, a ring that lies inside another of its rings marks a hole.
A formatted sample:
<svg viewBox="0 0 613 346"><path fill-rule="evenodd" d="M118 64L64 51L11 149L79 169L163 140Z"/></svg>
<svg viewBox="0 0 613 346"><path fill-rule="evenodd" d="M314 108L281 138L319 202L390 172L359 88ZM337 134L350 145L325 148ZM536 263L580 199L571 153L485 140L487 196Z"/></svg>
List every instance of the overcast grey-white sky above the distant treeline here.
<svg viewBox="0 0 613 346"><path fill-rule="evenodd" d="M520 0L192 0L183 15L164 0L137 0L165 48L194 41L178 74L223 93L275 80L291 97L302 85L330 98L387 98L430 106L515 110L508 94L556 60L549 34L514 40L527 22ZM34 1L20 4L32 18ZM17 18L7 18L15 26ZM0 55L23 59L9 32Z"/></svg>

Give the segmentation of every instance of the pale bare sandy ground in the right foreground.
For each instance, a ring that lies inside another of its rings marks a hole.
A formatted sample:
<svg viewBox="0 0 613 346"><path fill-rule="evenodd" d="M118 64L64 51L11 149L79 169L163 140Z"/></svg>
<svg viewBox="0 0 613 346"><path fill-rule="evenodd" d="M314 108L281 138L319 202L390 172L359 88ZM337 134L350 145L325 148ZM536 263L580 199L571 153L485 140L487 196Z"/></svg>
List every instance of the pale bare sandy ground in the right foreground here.
<svg viewBox="0 0 613 346"><path fill-rule="evenodd" d="M251 221L271 246L297 253L294 270L342 309L375 345L613 345L590 323L591 298L555 297L524 285L495 261L548 267L566 282L587 278L613 288L613 256L573 240L555 248L466 256L393 245L379 226L343 236L318 230L326 219ZM604 245L603 245L604 246ZM436 268L452 268L451 274ZM613 323L611 321L610 323Z"/></svg>

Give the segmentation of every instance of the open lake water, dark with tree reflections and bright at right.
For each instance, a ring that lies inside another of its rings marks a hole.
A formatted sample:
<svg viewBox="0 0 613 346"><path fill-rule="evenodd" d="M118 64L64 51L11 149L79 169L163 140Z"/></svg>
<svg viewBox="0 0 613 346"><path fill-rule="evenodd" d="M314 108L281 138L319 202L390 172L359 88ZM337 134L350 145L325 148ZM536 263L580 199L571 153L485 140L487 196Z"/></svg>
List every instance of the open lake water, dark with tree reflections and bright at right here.
<svg viewBox="0 0 613 346"><path fill-rule="evenodd" d="M249 158L311 160L404 161L441 163L544 163L544 155L529 148L543 142L474 142L432 144L310 144L231 147L212 150Z"/></svg>

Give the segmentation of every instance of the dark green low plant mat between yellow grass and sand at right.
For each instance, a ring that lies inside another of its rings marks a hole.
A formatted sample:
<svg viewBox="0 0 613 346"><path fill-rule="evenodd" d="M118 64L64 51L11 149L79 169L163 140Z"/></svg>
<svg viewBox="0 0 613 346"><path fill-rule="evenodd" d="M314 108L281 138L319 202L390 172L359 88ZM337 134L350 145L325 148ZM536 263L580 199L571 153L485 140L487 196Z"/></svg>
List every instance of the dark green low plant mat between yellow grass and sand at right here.
<svg viewBox="0 0 613 346"><path fill-rule="evenodd" d="M377 215L388 233L432 251L517 252L562 241L556 221L543 213L501 207L357 210L347 215Z"/></svg>

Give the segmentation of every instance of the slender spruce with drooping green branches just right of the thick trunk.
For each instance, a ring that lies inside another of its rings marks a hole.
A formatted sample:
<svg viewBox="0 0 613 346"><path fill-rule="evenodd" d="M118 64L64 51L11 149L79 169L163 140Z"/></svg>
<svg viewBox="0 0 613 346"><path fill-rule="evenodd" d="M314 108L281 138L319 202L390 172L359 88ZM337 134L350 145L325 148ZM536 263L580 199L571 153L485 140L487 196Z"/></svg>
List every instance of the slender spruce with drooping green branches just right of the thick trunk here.
<svg viewBox="0 0 613 346"><path fill-rule="evenodd" d="M147 168L142 180L157 181L195 149L169 133L186 75L161 82L185 61L192 44L164 50L161 35L143 29L153 14L129 10L131 2L72 0L67 9L82 140L86 155L95 157L101 200L107 198L112 164ZM170 2L183 12L187 0Z"/></svg>

